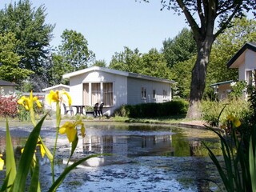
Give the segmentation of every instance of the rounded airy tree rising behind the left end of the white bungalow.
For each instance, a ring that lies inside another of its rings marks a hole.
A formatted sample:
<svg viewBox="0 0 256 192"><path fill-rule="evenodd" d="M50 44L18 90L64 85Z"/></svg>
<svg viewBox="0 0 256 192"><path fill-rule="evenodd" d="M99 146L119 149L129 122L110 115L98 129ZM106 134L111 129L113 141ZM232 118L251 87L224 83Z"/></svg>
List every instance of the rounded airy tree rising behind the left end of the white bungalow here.
<svg viewBox="0 0 256 192"><path fill-rule="evenodd" d="M62 56L66 72L84 69L94 62L95 54L89 50L86 38L75 30L64 30L62 45L58 46L58 54Z"/></svg>

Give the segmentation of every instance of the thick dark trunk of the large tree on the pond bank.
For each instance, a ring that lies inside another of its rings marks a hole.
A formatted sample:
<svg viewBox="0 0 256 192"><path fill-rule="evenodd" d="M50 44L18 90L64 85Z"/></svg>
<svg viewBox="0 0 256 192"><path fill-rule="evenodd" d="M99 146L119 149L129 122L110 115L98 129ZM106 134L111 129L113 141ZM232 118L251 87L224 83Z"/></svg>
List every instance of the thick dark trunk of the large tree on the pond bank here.
<svg viewBox="0 0 256 192"><path fill-rule="evenodd" d="M206 70L209 63L210 50L213 37L205 38L198 42L198 57L192 70L192 79L190 84L190 106L186 118L201 118L202 94L206 88Z"/></svg>

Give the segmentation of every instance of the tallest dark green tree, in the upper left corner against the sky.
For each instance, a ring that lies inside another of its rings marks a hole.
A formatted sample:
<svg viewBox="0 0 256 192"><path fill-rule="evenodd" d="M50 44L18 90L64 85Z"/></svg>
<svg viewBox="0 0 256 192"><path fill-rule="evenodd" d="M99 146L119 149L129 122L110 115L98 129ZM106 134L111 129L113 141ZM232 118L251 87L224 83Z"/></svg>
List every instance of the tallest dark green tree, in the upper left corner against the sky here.
<svg viewBox="0 0 256 192"><path fill-rule="evenodd" d="M20 0L0 10L0 33L13 32L18 39L15 52L21 56L19 66L39 74L50 52L54 26L45 23L46 9L32 8L29 0Z"/></svg>

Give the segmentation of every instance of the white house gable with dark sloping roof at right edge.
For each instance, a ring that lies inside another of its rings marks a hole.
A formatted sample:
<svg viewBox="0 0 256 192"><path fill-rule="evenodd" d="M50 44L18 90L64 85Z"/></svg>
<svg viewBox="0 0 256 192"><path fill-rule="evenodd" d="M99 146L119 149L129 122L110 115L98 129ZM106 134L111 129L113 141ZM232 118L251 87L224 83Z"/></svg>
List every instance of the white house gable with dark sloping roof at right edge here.
<svg viewBox="0 0 256 192"><path fill-rule="evenodd" d="M254 70L256 70L256 44L247 42L227 62L228 68L238 68L239 81L245 80L248 85L254 82Z"/></svg>

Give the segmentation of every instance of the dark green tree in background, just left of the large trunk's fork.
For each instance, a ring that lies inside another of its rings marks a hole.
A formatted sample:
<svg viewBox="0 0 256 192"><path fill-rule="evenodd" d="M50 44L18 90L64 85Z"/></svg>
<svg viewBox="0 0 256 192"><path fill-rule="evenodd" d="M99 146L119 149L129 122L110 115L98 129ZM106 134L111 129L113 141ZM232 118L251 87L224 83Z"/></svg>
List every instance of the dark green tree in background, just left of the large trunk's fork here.
<svg viewBox="0 0 256 192"><path fill-rule="evenodd" d="M162 45L162 53L169 67L174 66L177 62L184 62L190 59L197 51L193 33L187 28L182 29L174 38L164 40Z"/></svg>

